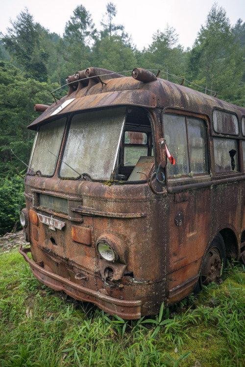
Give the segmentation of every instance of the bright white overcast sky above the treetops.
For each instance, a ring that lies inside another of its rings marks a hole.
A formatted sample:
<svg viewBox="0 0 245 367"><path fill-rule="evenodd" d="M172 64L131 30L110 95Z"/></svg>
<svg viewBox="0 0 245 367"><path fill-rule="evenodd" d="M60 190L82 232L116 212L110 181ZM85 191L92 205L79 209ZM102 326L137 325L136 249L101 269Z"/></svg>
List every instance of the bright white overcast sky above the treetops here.
<svg viewBox="0 0 245 367"><path fill-rule="evenodd" d="M82 4L92 15L100 29L100 21L106 12L110 0L0 0L0 31L6 33L10 26L9 19L25 9L50 32L62 36L66 22L73 15L77 5ZM201 24L205 23L208 12L215 0L111 0L117 6L114 23L123 24L125 31L131 34L133 44L142 49L152 41L152 34L163 31L167 23L175 28L179 43L185 48L192 47ZM226 10L226 15L234 25L239 18L245 22L245 0L217 0L218 5Z"/></svg>

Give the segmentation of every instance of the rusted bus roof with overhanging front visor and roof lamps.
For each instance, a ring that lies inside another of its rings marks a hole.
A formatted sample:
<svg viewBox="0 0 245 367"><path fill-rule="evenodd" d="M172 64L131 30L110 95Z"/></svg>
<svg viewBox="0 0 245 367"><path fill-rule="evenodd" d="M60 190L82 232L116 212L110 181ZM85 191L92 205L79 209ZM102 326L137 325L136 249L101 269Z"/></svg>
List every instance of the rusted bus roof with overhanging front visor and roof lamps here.
<svg viewBox="0 0 245 367"><path fill-rule="evenodd" d="M92 76L86 77L87 70ZM145 71L147 76L152 74L147 70ZM75 79L77 74L78 80ZM81 76L85 76L85 78L81 78ZM48 119L53 115L60 116L70 112L117 105L140 106L150 109L172 108L208 115L210 118L215 108L235 113L238 116L245 115L245 108L222 101L219 98L156 78L154 74L152 74L152 80L150 77L148 79L149 81L137 80L134 77L126 77L99 68L79 71L67 78L68 83L70 82L68 95L47 108L28 126L28 129L36 130L40 124L46 120L48 122Z"/></svg>

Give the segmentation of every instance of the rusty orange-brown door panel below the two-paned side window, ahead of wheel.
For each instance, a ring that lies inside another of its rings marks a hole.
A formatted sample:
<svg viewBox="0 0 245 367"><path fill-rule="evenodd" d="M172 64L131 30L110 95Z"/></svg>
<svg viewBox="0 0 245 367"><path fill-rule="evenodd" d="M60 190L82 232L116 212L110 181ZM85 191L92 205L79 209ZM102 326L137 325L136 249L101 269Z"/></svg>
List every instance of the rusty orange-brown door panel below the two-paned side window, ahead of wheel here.
<svg viewBox="0 0 245 367"><path fill-rule="evenodd" d="M168 289L185 283L181 292L169 293L169 304L193 289L203 253L210 240L211 192L209 189L182 191L169 196Z"/></svg>

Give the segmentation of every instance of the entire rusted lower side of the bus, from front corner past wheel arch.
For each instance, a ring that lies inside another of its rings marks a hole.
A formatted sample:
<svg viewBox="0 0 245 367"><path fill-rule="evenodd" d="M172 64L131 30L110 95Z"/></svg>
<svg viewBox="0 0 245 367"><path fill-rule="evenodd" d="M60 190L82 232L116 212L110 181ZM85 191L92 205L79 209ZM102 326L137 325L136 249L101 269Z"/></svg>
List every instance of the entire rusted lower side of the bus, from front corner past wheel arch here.
<svg viewBox="0 0 245 367"><path fill-rule="evenodd" d="M244 181L234 181L170 195L169 304L193 290L205 250L221 230L233 233L232 243L224 237L227 254L233 257L239 254L238 242L244 228L244 189Z"/></svg>

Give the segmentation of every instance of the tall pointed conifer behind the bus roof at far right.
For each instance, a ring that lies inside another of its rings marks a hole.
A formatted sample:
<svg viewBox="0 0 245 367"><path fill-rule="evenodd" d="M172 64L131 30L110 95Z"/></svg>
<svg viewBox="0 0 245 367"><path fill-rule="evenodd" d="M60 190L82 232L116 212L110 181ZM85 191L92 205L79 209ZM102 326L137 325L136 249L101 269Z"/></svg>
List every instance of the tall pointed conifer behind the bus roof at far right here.
<svg viewBox="0 0 245 367"><path fill-rule="evenodd" d="M219 97L236 99L242 77L242 53L226 12L215 3L198 32L189 58L189 80Z"/></svg>

